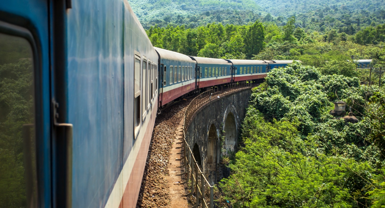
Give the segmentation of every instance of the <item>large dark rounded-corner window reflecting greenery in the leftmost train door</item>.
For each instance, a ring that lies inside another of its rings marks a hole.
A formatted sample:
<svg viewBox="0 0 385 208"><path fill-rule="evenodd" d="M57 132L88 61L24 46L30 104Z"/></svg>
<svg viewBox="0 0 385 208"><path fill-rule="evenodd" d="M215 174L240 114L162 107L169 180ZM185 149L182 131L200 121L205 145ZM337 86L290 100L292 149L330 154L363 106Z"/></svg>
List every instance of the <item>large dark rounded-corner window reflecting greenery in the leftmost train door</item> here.
<svg viewBox="0 0 385 208"><path fill-rule="evenodd" d="M33 49L2 33L0 45L0 206L37 207Z"/></svg>

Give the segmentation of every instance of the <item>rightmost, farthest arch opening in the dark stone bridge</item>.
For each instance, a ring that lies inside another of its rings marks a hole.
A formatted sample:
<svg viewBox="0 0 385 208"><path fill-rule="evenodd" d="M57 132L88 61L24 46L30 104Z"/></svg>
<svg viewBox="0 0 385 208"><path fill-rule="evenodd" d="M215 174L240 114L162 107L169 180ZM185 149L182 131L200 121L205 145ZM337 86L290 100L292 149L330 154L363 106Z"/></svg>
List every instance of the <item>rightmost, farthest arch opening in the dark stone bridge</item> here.
<svg viewBox="0 0 385 208"><path fill-rule="evenodd" d="M230 152L234 152L237 146L237 129L235 123L235 117L232 112L226 117L224 122L224 144L223 148L226 149L225 155L228 155Z"/></svg>

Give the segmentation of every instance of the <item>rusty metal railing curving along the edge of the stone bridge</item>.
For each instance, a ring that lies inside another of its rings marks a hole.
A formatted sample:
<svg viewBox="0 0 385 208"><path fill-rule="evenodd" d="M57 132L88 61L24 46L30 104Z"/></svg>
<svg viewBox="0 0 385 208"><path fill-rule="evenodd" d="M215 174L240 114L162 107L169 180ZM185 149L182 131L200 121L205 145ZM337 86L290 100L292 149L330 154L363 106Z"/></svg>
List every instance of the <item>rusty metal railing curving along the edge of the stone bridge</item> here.
<svg viewBox="0 0 385 208"><path fill-rule="evenodd" d="M184 172L179 175L185 176L185 181L181 184L186 184L190 191L183 196L190 197L190 201L195 204L191 208L197 208L199 205L201 205L202 208L214 208L214 186L211 186L204 176L204 172L199 167L199 164L187 143L187 126L196 110L206 102L209 102L216 97L221 97L224 94L251 87L251 81L230 83L224 89L222 87L221 91L219 91L219 88L217 87L217 89L214 88L199 94L190 102L189 106L187 106L183 119L183 145L181 147L183 148L182 154L184 156L178 160L183 160L183 165L180 166L180 168L184 168Z"/></svg>

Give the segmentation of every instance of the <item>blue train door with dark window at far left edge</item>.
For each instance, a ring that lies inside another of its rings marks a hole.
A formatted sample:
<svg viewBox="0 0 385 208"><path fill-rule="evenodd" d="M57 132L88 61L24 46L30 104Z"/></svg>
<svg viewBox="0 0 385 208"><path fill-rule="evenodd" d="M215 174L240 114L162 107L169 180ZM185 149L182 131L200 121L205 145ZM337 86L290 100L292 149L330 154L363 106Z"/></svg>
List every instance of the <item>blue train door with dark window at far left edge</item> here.
<svg viewBox="0 0 385 208"><path fill-rule="evenodd" d="M72 169L62 166L72 161L67 151L72 147L67 145L71 125L59 123L66 108L65 102L59 107L57 92L62 97L65 92L57 87L63 78L55 78L65 67L65 50L55 50L64 42L60 28L65 2L0 3L0 166L6 167L0 173L2 207L71 206ZM62 141L57 133L64 135Z"/></svg>

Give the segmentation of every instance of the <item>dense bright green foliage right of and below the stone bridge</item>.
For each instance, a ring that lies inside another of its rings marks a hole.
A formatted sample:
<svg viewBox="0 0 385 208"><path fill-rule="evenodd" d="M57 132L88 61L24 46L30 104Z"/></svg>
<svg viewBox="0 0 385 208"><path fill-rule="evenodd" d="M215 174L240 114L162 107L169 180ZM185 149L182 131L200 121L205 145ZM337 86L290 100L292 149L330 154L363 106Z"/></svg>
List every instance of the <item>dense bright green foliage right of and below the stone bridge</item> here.
<svg viewBox="0 0 385 208"><path fill-rule="evenodd" d="M385 206L385 92L331 74L338 64L273 69L253 89L221 206ZM340 100L357 123L329 114Z"/></svg>

